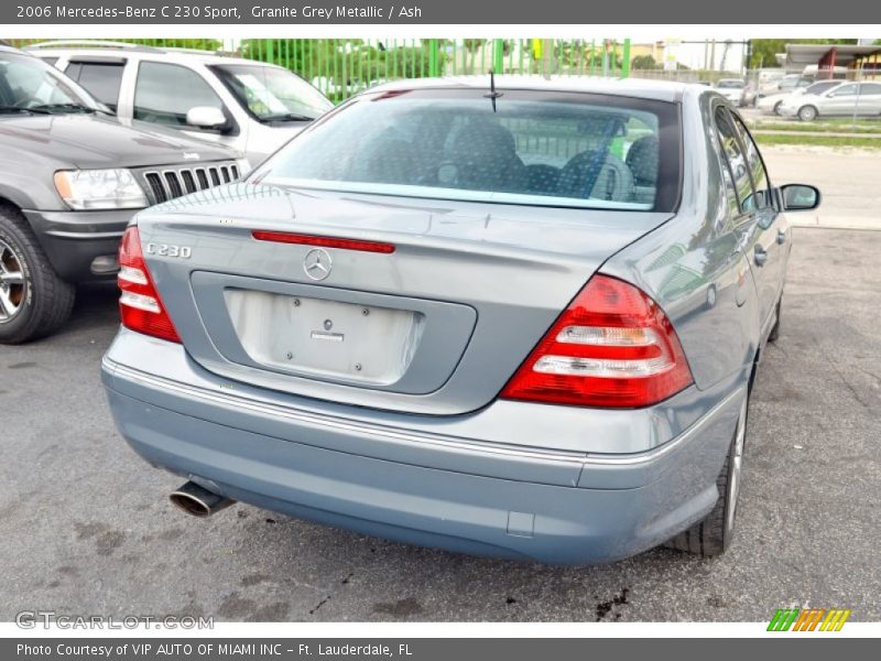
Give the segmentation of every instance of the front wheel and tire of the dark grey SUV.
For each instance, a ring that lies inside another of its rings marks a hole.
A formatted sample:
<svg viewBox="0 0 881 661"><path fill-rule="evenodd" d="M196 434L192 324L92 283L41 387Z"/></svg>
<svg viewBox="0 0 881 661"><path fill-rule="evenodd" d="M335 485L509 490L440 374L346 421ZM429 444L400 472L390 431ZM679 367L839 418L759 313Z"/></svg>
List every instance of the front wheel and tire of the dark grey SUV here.
<svg viewBox="0 0 881 661"><path fill-rule="evenodd" d="M56 330L74 306L74 285L58 278L24 217L0 206L0 344Z"/></svg>

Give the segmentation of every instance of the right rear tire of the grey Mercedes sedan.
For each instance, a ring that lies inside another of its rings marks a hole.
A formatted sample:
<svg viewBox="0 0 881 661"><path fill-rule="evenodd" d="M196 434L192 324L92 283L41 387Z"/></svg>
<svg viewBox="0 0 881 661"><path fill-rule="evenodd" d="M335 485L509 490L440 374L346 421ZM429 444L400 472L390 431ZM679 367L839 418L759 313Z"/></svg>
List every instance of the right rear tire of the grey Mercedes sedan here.
<svg viewBox="0 0 881 661"><path fill-rule="evenodd" d="M737 429L728 447L722 470L716 478L719 499L706 519L681 532L665 545L701 557L721 555L731 545L737 516L737 501L742 478L743 447L747 440L749 393L743 398Z"/></svg>

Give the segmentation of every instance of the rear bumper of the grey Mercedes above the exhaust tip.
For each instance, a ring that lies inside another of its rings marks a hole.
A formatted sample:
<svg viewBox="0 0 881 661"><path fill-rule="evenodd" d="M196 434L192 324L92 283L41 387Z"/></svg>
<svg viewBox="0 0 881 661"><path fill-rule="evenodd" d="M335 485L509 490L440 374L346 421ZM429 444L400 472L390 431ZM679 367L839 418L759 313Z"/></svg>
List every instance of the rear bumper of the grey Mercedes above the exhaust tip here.
<svg viewBox="0 0 881 661"><path fill-rule="evenodd" d="M145 342L177 361L166 369L198 370L180 346ZM117 425L143 458L224 496L365 534L555 564L633 555L706 516L743 397L727 392L652 451L609 455L280 408L233 384L132 369L112 348L102 377Z"/></svg>

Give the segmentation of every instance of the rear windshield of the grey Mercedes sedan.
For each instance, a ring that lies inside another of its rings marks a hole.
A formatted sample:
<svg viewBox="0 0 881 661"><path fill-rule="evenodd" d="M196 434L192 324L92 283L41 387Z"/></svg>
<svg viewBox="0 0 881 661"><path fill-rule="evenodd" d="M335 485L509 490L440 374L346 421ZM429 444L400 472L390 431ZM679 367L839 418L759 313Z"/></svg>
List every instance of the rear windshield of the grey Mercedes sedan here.
<svg viewBox="0 0 881 661"><path fill-rule="evenodd" d="M367 94L251 181L469 202L671 212L675 104L612 95L424 89Z"/></svg>

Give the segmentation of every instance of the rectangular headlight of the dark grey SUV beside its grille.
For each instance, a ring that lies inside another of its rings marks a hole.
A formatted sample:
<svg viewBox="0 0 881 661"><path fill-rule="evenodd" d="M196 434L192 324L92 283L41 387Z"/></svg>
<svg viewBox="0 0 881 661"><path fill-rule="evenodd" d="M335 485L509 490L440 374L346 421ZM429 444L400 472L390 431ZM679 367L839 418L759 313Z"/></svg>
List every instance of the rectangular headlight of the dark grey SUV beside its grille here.
<svg viewBox="0 0 881 661"><path fill-rule="evenodd" d="M149 205L128 170L62 170L55 188L73 209L140 209Z"/></svg>

